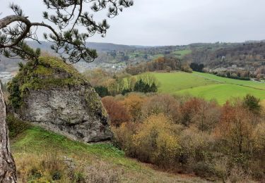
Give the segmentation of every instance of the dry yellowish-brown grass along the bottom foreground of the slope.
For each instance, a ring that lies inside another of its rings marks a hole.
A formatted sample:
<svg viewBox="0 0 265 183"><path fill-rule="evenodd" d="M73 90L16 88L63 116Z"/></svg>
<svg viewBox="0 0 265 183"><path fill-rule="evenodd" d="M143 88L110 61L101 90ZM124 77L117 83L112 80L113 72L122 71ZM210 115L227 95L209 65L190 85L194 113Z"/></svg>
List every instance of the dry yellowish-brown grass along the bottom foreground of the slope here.
<svg viewBox="0 0 265 183"><path fill-rule="evenodd" d="M190 175L174 175L141 164L132 170L90 155L66 157L62 153L15 153L19 182L206 182ZM139 163L140 164L140 163Z"/></svg>

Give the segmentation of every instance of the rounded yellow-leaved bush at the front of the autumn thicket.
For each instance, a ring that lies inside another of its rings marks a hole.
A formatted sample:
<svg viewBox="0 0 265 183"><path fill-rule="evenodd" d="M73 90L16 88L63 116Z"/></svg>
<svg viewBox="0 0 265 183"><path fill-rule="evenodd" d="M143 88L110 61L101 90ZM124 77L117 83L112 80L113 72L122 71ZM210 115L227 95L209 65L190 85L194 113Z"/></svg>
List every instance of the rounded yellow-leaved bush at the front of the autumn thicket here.
<svg viewBox="0 0 265 183"><path fill-rule="evenodd" d="M178 137L174 134L174 124L165 115L151 115L133 137L136 157L163 168L175 167L175 159L180 152Z"/></svg>

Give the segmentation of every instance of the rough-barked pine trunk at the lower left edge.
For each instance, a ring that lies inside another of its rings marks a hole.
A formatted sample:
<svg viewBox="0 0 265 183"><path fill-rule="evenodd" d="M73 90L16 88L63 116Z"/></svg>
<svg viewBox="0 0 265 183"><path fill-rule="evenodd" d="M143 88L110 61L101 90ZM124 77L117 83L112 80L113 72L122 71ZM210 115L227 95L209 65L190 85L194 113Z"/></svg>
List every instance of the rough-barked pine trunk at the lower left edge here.
<svg viewBox="0 0 265 183"><path fill-rule="evenodd" d="M6 126L6 104L0 83L0 182L17 182L16 165L11 156Z"/></svg>

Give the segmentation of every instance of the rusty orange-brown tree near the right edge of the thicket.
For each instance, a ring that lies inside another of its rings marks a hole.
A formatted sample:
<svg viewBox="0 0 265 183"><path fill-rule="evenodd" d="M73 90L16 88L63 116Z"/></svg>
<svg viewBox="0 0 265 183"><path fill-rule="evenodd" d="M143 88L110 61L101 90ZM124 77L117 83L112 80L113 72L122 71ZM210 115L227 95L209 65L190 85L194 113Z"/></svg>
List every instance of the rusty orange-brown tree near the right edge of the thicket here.
<svg viewBox="0 0 265 183"><path fill-rule="evenodd" d="M216 137L225 141L234 153L251 153L254 146L255 118L241 105L223 106Z"/></svg>

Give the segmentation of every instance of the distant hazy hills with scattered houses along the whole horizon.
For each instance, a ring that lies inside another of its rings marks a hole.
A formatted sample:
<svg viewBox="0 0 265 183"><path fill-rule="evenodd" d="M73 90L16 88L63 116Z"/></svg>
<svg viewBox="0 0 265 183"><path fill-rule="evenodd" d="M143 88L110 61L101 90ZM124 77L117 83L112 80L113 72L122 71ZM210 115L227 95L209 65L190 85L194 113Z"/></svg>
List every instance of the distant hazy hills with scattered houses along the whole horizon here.
<svg viewBox="0 0 265 183"><path fill-rule="evenodd" d="M54 52L50 49L49 42L28 42L34 49L40 48L42 51ZM260 68L265 65L265 42L247 41L242 43L194 43L183 46L129 46L112 43L88 42L90 49L98 51L98 58L93 63L78 63L78 70L100 67L111 68L113 65L126 67L141 62L152 61L155 58L165 55L181 58L182 61L204 63L208 68L250 66ZM225 58L220 63L220 58ZM18 59L8 59L0 56L0 72L13 72L17 69ZM80 68L80 69L79 69Z"/></svg>

